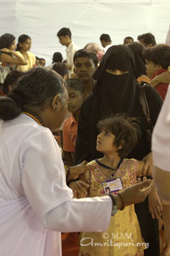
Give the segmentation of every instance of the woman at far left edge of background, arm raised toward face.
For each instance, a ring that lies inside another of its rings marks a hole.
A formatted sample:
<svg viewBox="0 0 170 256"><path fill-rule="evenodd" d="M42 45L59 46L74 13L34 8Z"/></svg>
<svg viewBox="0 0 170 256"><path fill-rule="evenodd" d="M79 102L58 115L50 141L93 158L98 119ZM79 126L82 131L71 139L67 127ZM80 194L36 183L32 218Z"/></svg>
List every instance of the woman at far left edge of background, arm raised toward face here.
<svg viewBox="0 0 170 256"><path fill-rule="evenodd" d="M15 37L11 34L4 34L0 37L0 82L3 84L8 73L16 65L27 65L27 60L15 52Z"/></svg>

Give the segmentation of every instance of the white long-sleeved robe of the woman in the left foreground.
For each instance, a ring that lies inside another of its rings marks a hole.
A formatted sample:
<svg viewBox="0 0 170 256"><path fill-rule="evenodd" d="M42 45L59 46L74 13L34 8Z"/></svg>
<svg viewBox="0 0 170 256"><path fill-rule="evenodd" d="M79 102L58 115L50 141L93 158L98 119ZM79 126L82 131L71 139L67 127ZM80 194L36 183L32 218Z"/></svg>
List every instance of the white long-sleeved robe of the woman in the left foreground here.
<svg viewBox="0 0 170 256"><path fill-rule="evenodd" d="M72 199L49 129L20 114L1 122L0 144L0 255L60 256L60 231L108 228L110 197Z"/></svg>

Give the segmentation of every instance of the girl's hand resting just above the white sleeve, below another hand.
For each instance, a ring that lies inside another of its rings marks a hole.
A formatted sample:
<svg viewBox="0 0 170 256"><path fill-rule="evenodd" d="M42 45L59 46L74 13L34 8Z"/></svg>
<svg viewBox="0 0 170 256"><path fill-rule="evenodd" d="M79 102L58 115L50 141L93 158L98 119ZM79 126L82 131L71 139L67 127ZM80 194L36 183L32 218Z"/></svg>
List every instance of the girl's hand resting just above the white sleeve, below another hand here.
<svg viewBox="0 0 170 256"><path fill-rule="evenodd" d="M84 198L87 196L89 185L83 181L74 181L69 184L69 187L76 198Z"/></svg>

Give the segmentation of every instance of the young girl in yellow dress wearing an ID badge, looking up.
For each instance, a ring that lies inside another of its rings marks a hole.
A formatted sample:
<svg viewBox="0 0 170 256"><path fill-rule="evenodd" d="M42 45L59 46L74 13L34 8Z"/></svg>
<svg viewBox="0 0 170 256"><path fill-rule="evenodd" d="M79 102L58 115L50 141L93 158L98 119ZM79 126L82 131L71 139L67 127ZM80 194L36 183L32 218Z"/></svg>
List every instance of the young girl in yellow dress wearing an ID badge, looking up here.
<svg viewBox="0 0 170 256"><path fill-rule="evenodd" d="M117 114L115 117L101 120L98 129L101 133L96 141L96 150L102 152L104 156L91 161L89 164L96 168L89 169L80 176L81 181L89 184L89 197L117 194L119 190L134 184L137 176L144 175L141 173L143 161L126 158L140 135L137 120L126 114ZM77 197L82 196L77 194ZM92 241L93 245L101 243L103 246L92 246ZM108 244L104 246L104 243ZM80 245L79 256L137 256L143 255L143 250L148 246L141 236L134 205L125 209L123 207L117 212L111 218L110 226L105 233L82 232Z"/></svg>

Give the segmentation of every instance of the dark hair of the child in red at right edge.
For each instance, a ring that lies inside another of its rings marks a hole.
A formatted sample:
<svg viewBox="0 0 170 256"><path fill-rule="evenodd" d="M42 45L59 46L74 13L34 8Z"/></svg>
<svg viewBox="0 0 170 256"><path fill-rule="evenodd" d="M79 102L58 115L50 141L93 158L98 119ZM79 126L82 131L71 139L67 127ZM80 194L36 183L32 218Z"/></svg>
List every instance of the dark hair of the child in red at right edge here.
<svg viewBox="0 0 170 256"><path fill-rule="evenodd" d="M157 45L151 48L144 49L145 59L152 61L155 65L161 65L163 69L170 66L170 46Z"/></svg>

